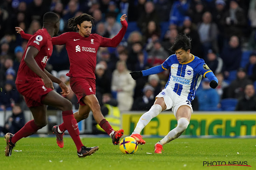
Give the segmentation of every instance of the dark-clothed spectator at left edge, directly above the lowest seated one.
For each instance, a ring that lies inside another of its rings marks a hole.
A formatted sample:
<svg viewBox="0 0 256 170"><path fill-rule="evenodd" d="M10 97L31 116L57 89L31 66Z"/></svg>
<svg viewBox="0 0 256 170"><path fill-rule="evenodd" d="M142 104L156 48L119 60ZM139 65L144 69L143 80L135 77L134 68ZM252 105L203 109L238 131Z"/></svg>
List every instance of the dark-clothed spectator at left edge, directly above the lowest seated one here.
<svg viewBox="0 0 256 170"><path fill-rule="evenodd" d="M0 110L11 110L15 103L19 102L19 93L13 80L6 80L5 86L0 92Z"/></svg>

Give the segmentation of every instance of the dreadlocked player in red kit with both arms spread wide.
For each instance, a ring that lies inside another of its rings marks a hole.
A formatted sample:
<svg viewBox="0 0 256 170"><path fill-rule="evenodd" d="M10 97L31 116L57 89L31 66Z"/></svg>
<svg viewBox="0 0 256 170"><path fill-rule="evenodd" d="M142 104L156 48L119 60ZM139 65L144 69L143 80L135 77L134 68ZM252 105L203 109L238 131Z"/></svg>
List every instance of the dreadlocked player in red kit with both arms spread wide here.
<svg viewBox="0 0 256 170"><path fill-rule="evenodd" d="M79 111L74 113L76 121L79 122L86 119L91 110L96 122L112 137L114 145L118 145L120 137L124 134L124 130L114 131L100 111L100 105L95 96L96 54L99 47L117 47L128 27L125 20L126 17L126 14L121 16L120 22L122 29L112 39L102 37L98 34L91 34L94 18L88 14L82 14L69 19L69 27L78 32L67 32L52 38L53 45L66 45L70 62L70 71L67 76L70 77L71 89L76 94L80 103ZM29 39L31 37L30 34L25 34L21 28L15 28L22 38ZM63 132L66 130L63 123L53 127L60 148L64 146Z"/></svg>

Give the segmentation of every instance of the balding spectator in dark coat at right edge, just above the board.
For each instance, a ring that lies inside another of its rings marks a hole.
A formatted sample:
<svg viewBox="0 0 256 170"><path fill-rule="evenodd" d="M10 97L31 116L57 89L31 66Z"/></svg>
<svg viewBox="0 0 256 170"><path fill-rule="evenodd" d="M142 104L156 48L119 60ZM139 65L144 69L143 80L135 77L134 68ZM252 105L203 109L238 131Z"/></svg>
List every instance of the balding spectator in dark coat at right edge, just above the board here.
<svg viewBox="0 0 256 170"><path fill-rule="evenodd" d="M236 111L256 111L255 88L247 84L244 89L244 97L237 103Z"/></svg>

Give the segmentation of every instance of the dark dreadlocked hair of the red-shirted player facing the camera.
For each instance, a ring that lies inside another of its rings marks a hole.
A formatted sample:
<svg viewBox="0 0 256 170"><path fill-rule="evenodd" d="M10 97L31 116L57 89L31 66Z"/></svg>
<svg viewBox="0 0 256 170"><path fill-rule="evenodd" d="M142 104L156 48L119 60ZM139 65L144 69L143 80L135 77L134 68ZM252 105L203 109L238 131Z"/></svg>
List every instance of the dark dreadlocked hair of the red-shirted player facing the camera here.
<svg viewBox="0 0 256 170"><path fill-rule="evenodd" d="M77 24L79 24L81 26L82 22L91 21L91 24L93 24L93 26L94 26L94 22L93 22L94 19L95 19L94 17L83 13L82 15L79 15L77 17L70 18L68 20L68 25L69 25L69 28L71 28L72 30L78 31L79 29L77 28Z"/></svg>

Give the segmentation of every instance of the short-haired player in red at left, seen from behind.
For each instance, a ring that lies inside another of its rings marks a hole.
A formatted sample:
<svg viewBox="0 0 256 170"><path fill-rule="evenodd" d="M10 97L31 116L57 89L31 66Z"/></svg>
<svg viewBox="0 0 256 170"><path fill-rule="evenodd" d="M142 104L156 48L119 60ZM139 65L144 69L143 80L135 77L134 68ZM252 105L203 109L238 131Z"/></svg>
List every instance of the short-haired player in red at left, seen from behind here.
<svg viewBox="0 0 256 170"><path fill-rule="evenodd" d="M43 16L43 28L38 30L28 41L20 63L16 87L25 97L34 120L27 122L22 129L14 135L7 133L5 156L11 156L15 143L32 135L47 124L46 105L59 108L62 111L63 126L75 142L77 155L85 157L98 150L99 147L85 147L79 137L79 129L72 112L72 103L53 91L53 83L58 83L64 95L69 94L68 87L44 68L48 58L52 55L52 37L59 31L59 18L53 12L47 12Z"/></svg>

